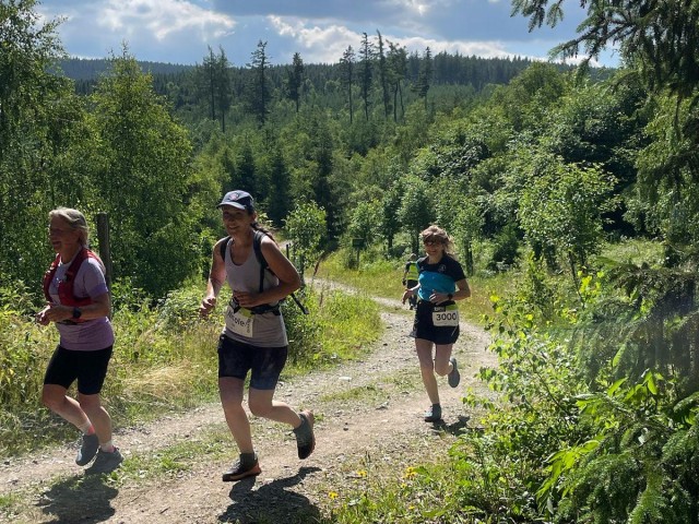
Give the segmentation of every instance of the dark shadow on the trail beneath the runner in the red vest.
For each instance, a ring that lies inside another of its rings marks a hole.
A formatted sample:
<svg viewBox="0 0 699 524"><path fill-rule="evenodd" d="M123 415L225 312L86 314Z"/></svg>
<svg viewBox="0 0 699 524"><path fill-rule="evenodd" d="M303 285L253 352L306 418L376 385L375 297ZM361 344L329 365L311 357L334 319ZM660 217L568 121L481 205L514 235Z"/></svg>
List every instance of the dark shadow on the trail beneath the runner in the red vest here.
<svg viewBox="0 0 699 524"><path fill-rule="evenodd" d="M36 505L51 523L92 524L105 522L115 514L111 499L119 492L104 484L103 475L79 475L61 480L44 492Z"/></svg>

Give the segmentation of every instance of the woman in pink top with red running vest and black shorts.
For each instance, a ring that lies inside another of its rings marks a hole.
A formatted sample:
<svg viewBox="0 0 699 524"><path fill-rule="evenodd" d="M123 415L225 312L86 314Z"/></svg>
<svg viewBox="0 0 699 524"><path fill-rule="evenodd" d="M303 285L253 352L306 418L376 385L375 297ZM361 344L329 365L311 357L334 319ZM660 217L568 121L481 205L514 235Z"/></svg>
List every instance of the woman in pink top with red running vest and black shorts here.
<svg viewBox="0 0 699 524"><path fill-rule="evenodd" d="M106 473L123 457L111 441L111 418L99 393L111 358L111 301L102 261L87 246L88 228L78 210L49 213L48 238L56 259L44 277L47 305L36 315L42 325L54 322L60 341L48 364L42 402L83 433L75 457L80 466L95 456L88 473ZM78 381L78 397L68 389Z"/></svg>

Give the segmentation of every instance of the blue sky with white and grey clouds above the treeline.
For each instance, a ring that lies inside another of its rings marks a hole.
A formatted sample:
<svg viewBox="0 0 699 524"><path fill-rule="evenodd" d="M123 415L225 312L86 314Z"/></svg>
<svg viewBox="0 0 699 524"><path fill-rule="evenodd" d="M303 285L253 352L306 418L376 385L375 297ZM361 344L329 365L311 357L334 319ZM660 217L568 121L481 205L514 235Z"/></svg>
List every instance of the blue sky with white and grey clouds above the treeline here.
<svg viewBox="0 0 699 524"><path fill-rule="evenodd" d="M221 46L234 66L246 66L259 40L273 64L337 62L362 34L422 53L546 59L572 38L584 10L566 0L566 19L555 29L530 33L528 20L510 16L510 0L39 0L37 11L63 17L58 33L66 51L80 58L120 52L138 60L201 63ZM600 62L618 66L607 53Z"/></svg>

